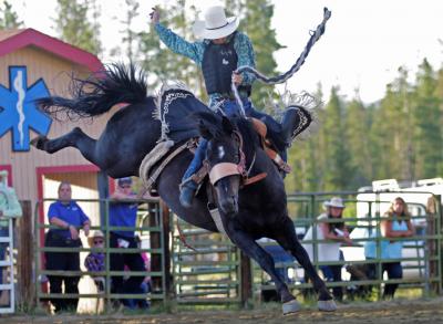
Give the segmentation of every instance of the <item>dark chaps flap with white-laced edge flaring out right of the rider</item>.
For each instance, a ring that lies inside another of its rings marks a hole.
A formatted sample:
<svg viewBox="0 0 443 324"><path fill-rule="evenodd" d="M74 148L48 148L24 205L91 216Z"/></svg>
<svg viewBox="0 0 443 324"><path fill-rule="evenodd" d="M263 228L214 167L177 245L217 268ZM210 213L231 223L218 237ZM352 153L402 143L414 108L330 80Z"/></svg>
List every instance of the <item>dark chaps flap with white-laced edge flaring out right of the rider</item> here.
<svg viewBox="0 0 443 324"><path fill-rule="evenodd" d="M311 114L300 106L289 106L281 118L280 138L286 147L312 122Z"/></svg>

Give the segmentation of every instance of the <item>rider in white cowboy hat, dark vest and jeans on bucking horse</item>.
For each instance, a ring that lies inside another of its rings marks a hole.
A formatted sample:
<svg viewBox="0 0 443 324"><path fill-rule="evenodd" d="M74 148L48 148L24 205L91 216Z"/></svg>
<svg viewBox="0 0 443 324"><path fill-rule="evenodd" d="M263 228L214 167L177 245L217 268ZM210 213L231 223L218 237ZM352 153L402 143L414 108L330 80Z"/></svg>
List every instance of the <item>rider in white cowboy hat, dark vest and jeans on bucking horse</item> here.
<svg viewBox="0 0 443 324"><path fill-rule="evenodd" d="M219 107L230 116L238 112L238 106L230 90L230 83L238 86L245 113L248 116L261 119L272 142L280 143L286 148L291 142L292 130L297 122L296 109L287 109L281 124L271 116L256 111L249 101L251 84L255 75L250 73L236 74L239 66L255 67L255 53L249 38L237 31L239 20L237 17L226 18L220 6L210 7L205 13L205 21L194 24L194 33L203 41L187 42L169 29L162 25L158 10L153 8L151 21L162 42L177 54L185 55L195 61L203 71L206 91L209 95L209 107ZM192 176L200 168L207 142L200 139L194 159L186 170L181 185L181 203L189 207L197 189L197 182ZM286 153L284 151L285 156Z"/></svg>

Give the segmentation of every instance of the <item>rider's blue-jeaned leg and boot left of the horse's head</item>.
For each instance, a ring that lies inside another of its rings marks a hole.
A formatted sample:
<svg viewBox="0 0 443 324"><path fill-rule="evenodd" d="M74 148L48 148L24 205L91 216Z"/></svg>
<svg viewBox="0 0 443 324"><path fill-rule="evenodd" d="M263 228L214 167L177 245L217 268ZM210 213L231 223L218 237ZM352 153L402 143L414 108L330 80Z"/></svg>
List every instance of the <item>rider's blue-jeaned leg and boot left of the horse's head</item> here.
<svg viewBox="0 0 443 324"><path fill-rule="evenodd" d="M195 150L194 158L187 167L182 178L179 201L183 207L190 207L195 191L197 190L197 182L192 179L192 176L202 167L205 157L207 140L200 138L200 143Z"/></svg>

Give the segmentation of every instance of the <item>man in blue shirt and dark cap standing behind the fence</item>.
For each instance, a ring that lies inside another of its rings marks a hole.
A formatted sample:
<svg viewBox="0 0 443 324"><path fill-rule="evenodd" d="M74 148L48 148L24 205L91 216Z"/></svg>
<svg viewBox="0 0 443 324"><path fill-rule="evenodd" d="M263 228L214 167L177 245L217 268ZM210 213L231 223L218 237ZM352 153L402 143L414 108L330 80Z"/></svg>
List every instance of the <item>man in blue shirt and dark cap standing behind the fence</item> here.
<svg viewBox="0 0 443 324"><path fill-rule="evenodd" d="M132 179L121 178L117 180L115 192L111 196L110 226L135 228L137 219L137 197L132 190ZM110 245L115 249L137 249L134 229L111 230ZM124 271L125 265L131 271L145 271L145 263L141 253L111 253L111 271ZM143 276L133 275L123 282L123 276L112 278L112 292L117 294L143 293L141 285ZM131 300L123 300L123 304L130 309L135 307Z"/></svg>

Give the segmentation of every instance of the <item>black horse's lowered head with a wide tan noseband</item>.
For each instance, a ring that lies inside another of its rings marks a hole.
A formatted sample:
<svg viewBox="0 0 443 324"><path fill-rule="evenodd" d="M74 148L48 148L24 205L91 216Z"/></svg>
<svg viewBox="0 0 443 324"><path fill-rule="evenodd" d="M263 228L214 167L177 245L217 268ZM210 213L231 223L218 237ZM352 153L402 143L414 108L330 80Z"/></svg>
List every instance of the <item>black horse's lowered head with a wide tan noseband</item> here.
<svg viewBox="0 0 443 324"><path fill-rule="evenodd" d="M199 133L208 140L205 163L218 207L233 216L238 212L238 190L245 173L243 137L228 118L212 114L200 115Z"/></svg>

